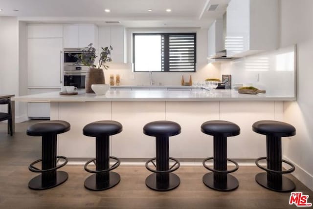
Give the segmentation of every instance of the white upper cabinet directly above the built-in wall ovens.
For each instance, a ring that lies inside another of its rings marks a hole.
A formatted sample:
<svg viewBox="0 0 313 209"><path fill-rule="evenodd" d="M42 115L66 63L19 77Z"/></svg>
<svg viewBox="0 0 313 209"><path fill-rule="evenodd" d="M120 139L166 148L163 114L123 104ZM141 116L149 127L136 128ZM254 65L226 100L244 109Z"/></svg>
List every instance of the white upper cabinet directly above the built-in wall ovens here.
<svg viewBox="0 0 313 209"><path fill-rule="evenodd" d="M98 27L95 24L64 25L64 48L84 48L98 45Z"/></svg>

